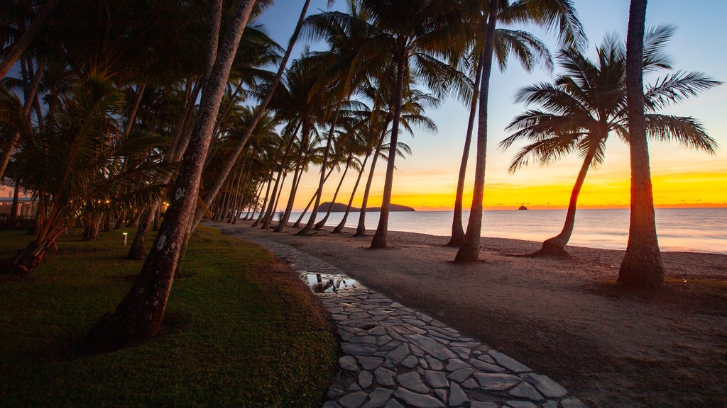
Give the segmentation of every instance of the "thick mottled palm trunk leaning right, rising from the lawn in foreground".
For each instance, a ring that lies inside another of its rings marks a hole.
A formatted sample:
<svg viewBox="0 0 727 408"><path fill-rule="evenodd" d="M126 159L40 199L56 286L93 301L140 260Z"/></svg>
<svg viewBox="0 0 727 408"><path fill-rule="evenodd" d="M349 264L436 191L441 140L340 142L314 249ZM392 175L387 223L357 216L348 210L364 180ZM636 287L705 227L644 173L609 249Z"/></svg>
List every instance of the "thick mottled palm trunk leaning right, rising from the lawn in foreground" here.
<svg viewBox="0 0 727 408"><path fill-rule="evenodd" d="M174 271L180 261L179 248L185 242L187 224L196 209L201 172L212 139L214 119L220 109L230 68L254 3L254 0L239 1L230 16L228 32L220 44L212 73L204 86L193 139L174 183L172 203L166 211L164 223L150 254L126 297L113 313L103 317L92 330L91 338L106 345L150 338L156 335L161 326L166 301L172 290ZM210 38L218 36L218 33L210 34Z"/></svg>

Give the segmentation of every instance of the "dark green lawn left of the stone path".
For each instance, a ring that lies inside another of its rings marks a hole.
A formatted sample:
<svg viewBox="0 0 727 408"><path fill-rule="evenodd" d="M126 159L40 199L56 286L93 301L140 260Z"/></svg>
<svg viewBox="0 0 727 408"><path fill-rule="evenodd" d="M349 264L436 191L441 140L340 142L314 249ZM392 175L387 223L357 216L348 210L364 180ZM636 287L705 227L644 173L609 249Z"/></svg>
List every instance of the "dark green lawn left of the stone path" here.
<svg viewBox="0 0 727 408"><path fill-rule="evenodd" d="M161 331L103 354L76 346L129 290L121 232L64 236L31 278L0 280L0 407L320 407L335 341L316 300L255 245L200 229ZM0 258L30 240L0 232Z"/></svg>

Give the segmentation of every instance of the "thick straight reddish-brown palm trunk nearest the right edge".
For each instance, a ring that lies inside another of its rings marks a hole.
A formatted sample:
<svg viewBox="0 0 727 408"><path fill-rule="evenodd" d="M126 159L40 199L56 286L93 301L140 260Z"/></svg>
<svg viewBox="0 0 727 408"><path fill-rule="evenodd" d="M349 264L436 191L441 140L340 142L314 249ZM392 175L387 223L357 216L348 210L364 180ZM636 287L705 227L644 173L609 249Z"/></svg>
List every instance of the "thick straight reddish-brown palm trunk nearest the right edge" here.
<svg viewBox="0 0 727 408"><path fill-rule="evenodd" d="M631 153L629 240L618 282L642 288L664 286L664 265L656 237L654 195L643 113L643 33L646 0L631 0L626 38L626 101Z"/></svg>

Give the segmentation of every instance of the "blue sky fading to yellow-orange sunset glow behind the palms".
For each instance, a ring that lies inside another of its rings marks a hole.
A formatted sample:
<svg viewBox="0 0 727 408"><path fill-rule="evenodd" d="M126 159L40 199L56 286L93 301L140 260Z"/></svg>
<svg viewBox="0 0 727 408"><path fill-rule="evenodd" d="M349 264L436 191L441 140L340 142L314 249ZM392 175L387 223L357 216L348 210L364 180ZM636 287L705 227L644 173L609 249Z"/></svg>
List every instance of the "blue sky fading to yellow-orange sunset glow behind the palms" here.
<svg viewBox="0 0 727 408"><path fill-rule="evenodd" d="M607 33L626 37L628 0L574 0L577 12L589 39L587 54L593 57L595 46L601 44ZM283 46L288 44L297 17L300 0L278 0L262 15L259 22L268 34ZM333 9L345 10L346 1L337 0ZM312 0L308 14L329 11L326 0ZM727 1L651 0L646 11L646 25L670 24L677 27L667 48L675 70L700 71L717 81L727 81L727 53L723 46L727 37ZM530 28L529 28L530 29ZM531 29L550 46L552 54L558 46L553 33ZM302 41L301 41L302 40ZM305 40L293 56L300 55ZM311 44L316 48L316 44ZM505 131L516 115L526 106L515 103L515 92L523 86L541 81L552 81L559 72L536 68L526 73L517 62L511 61L505 72L494 71L491 77L489 100L489 142L487 146L484 205L489 209L512 209L520 205L528 208L565 208L571 188L579 171L581 160L577 155L563 158L558 163L541 167L531 164L509 174L507 167L515 152L523 144L515 144L504 152L497 144L509 136ZM658 76L664 76L662 71ZM657 76L645 78L653 83ZM727 84L705 91L663 113L692 116L704 125L719 148L716 155L687 150L678 144L650 142L651 176L654 183L654 203L657 207L727 206ZM462 158L469 110L456 99L446 100L441 107L425 113L437 124L432 133L415 129L414 135L401 134L400 142L409 144L411 156L396 159L392 203L409 205L417 211L449 211L454 205L457 174ZM465 209L472 202L474 152L470 153L465 183ZM606 160L591 169L579 196L579 208L627 207L630 202L630 158L628 147L611 135L606 144ZM367 170L368 171L368 170ZM369 206L381 203L385 163L379 161L374 174ZM366 175L364 176L366 177ZM334 174L324 188L321 202L332 200L340 174ZM364 179L365 181L365 179ZM347 203L355 182L349 171L344 180L339 203ZM318 168L310 167L301 182L294 203L302 210L315 192ZM353 205L361 204L363 181ZM287 200L289 185L284 187L281 203ZM282 206L282 204L281 204Z"/></svg>

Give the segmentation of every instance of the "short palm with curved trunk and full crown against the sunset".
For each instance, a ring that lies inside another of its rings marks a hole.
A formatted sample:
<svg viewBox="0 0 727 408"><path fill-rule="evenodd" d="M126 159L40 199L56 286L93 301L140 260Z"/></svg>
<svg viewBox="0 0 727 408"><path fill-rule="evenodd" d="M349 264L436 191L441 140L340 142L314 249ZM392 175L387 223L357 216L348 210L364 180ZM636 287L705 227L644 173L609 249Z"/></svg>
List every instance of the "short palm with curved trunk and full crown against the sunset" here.
<svg viewBox="0 0 727 408"><path fill-rule="evenodd" d="M673 28L659 27L646 35L643 69L670 68L667 57L659 52L670 38ZM542 165L552 163L569 152L583 158L571 192L566 222L561 233L543 242L534 255L567 256L564 249L575 223L576 204L587 171L603 163L608 135L616 132L628 140L626 115L625 48L615 36L607 37L598 47L593 62L576 49L563 49L558 60L565 73L554 83L538 83L518 91L517 101L535 103L542 110L529 110L513 119L508 129L517 132L500 142L502 149L522 139L531 143L523 147L510 164L514 173L534 158ZM714 153L715 141L693 118L653 113L663 105L679 102L700 90L717 86L701 73L678 72L646 90L646 132L662 140L675 139L688 147Z"/></svg>

